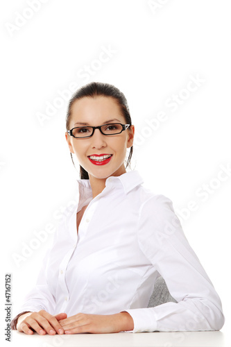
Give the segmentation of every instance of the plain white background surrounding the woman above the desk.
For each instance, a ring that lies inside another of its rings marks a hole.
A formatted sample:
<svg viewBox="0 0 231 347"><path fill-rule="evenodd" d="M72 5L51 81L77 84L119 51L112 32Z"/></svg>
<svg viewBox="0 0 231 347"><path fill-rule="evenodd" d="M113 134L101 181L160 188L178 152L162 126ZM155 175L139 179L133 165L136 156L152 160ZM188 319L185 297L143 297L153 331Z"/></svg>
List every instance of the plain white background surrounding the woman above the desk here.
<svg viewBox="0 0 231 347"><path fill-rule="evenodd" d="M171 198L178 215L194 201L182 227L221 296L228 330L231 174L218 175L231 165L230 1L153 1L155 9L145 0L44 0L36 10L32 2L4 1L0 9L1 281L12 273L12 314L51 244L47 232L33 244L35 232L57 225L78 178L65 142L67 100L44 121L38 115L71 83L101 81L128 99L139 142L131 168ZM203 82L187 94L190 76ZM181 104L172 112L166 102L174 95ZM158 112L165 121L153 130L147 119ZM206 201L196 193L203 185ZM25 244L37 249L16 262Z"/></svg>

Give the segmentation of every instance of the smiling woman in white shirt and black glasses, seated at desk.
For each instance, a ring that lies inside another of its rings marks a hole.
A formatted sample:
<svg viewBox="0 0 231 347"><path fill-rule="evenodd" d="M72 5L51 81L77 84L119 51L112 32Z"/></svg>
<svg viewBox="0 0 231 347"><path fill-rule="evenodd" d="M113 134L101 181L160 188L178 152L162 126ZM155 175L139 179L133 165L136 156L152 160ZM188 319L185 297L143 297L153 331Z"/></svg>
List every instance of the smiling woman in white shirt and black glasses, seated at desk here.
<svg viewBox="0 0 231 347"><path fill-rule="evenodd" d="M85 85L69 103L66 126L80 163L78 203L12 328L40 335L221 329L220 298L171 200L126 172L134 126L124 95L112 85ZM160 276L176 303L147 307Z"/></svg>

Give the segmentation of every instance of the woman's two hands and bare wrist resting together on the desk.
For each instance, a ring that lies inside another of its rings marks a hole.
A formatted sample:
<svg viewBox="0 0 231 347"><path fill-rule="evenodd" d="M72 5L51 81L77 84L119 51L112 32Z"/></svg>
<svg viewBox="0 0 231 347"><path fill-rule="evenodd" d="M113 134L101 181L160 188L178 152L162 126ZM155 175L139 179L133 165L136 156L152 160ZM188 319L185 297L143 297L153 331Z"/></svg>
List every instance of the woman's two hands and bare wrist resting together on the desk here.
<svg viewBox="0 0 231 347"><path fill-rule="evenodd" d="M128 312L107 315L78 313L67 318L65 313L52 316L41 310L26 316L17 329L28 335L33 334L33 331L39 335L46 335L46 333L49 335L55 335L56 333L62 335L84 332L107 334L133 330L133 328L133 319Z"/></svg>

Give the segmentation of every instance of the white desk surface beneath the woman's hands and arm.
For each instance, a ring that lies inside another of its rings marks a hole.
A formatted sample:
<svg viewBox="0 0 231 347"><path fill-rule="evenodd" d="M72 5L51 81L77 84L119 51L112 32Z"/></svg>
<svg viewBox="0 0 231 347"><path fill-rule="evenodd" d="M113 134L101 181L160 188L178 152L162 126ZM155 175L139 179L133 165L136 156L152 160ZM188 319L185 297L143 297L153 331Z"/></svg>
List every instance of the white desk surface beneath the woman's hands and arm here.
<svg viewBox="0 0 231 347"><path fill-rule="evenodd" d="M7 341L6 341L7 342ZM115 334L25 335L12 331L14 347L231 347L231 333L119 332Z"/></svg>

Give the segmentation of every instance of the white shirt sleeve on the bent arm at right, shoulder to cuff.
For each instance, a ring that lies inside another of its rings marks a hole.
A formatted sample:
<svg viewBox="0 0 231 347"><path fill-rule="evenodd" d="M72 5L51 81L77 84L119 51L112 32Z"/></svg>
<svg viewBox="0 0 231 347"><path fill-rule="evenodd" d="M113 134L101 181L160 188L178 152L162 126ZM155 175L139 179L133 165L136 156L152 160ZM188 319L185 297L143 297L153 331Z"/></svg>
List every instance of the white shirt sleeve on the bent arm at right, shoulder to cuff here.
<svg viewBox="0 0 231 347"><path fill-rule="evenodd" d="M224 324L221 300L189 245L169 198L157 195L143 204L137 237L177 303L124 310L134 321L130 332L220 330Z"/></svg>

